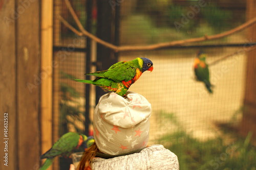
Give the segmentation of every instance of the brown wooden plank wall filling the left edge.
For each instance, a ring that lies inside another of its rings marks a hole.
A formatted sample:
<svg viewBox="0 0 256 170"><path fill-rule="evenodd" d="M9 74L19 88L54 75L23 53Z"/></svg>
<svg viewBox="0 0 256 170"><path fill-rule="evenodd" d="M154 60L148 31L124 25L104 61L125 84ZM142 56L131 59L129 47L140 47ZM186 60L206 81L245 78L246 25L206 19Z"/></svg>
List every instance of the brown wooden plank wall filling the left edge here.
<svg viewBox="0 0 256 170"><path fill-rule="evenodd" d="M49 125L52 110L51 101L49 106L46 101L42 102L42 99L52 99L51 87L47 88L51 84L45 83L51 80L51 74L43 67L52 62L52 39L47 36L51 26L41 23L43 7L41 1L35 0L0 2L0 169L38 169L42 150L52 144L52 132L41 131L41 126ZM47 43L48 49L42 45ZM41 50L44 50L42 55ZM41 122L45 110L50 113ZM3 136L4 113L8 113L8 139ZM8 151L2 144L5 140ZM3 161L6 153L8 166Z"/></svg>

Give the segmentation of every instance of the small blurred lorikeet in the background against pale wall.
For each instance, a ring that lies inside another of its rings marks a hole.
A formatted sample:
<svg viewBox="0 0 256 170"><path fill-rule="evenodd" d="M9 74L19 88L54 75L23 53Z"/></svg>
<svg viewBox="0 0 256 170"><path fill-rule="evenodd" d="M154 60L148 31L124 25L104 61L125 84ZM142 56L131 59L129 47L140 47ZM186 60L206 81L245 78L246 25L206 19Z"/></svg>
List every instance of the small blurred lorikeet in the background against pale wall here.
<svg viewBox="0 0 256 170"><path fill-rule="evenodd" d="M212 84L209 81L209 69L205 59L206 54L204 52L199 52L197 54L197 58L194 61L195 75L198 81L204 82L208 92L212 93Z"/></svg>

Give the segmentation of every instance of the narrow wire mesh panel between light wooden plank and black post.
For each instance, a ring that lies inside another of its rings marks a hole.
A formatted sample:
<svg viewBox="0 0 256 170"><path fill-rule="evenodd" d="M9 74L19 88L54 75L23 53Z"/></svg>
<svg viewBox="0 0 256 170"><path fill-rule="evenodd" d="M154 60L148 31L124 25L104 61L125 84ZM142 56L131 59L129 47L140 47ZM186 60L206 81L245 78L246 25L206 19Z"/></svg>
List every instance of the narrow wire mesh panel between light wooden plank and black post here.
<svg viewBox="0 0 256 170"><path fill-rule="evenodd" d="M79 20L87 27L87 1L71 1ZM72 79L84 79L87 69L87 38L70 31L61 23L62 16L73 27L77 26L65 4L65 1L54 1L54 142L67 132L85 134L86 129L86 87ZM77 150L81 151L81 150ZM60 158L54 163L54 169L68 169L71 159Z"/></svg>

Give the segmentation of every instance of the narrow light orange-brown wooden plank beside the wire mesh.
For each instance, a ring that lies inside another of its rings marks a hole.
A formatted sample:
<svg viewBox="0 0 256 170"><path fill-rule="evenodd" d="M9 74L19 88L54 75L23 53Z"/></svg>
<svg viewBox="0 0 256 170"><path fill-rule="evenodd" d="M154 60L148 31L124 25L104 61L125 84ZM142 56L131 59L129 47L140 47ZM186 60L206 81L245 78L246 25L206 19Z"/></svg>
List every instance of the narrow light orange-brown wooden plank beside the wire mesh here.
<svg viewBox="0 0 256 170"><path fill-rule="evenodd" d="M41 154L52 147L53 1L41 1ZM45 161L45 160L44 160ZM48 168L52 169L52 166Z"/></svg>

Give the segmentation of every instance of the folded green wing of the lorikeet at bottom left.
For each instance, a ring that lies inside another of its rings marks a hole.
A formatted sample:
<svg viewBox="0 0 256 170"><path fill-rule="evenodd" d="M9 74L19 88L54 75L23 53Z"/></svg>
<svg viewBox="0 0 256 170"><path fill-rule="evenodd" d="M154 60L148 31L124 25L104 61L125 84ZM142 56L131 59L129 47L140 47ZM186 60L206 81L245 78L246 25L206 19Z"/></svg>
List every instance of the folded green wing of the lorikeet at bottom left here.
<svg viewBox="0 0 256 170"><path fill-rule="evenodd" d="M78 133L68 132L62 135L53 147L41 156L44 158L53 158L57 155L70 154L78 145L80 135Z"/></svg>

